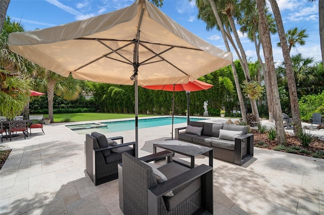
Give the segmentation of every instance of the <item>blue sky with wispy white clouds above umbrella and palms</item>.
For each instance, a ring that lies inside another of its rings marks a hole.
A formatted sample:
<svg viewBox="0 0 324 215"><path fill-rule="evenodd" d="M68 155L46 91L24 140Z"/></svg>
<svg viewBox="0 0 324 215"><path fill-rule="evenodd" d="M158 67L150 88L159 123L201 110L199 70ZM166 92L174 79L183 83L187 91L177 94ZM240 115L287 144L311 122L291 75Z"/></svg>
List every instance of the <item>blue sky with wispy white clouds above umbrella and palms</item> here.
<svg viewBox="0 0 324 215"><path fill-rule="evenodd" d="M25 30L43 29L61 25L76 20L82 20L100 14L108 13L131 5L134 0L11 0L7 16L20 21ZM160 9L174 21L210 42L226 50L222 35L216 29L207 31L206 24L198 20L195 1L165 0ZM302 53L304 57L312 57L321 61L319 29L318 29L318 1L309 3L307 0L278 0L277 1L285 31L298 27L307 29L309 37L304 46L297 46L291 51L292 55ZM256 61L254 44L239 32L241 42L245 48L248 60ZM282 62L281 49L276 47L279 42L277 34L272 35L273 56L275 62ZM237 56L231 48L234 60Z"/></svg>

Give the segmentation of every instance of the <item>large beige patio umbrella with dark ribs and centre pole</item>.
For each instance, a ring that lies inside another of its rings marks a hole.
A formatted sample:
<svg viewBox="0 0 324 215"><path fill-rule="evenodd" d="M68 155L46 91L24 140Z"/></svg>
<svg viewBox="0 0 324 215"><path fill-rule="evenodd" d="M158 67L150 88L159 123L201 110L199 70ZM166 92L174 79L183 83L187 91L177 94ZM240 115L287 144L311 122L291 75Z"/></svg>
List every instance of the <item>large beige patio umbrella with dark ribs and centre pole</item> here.
<svg viewBox="0 0 324 215"><path fill-rule="evenodd" d="M82 21L11 33L9 48L67 77L138 85L188 83L232 62L232 53L195 36L146 0Z"/></svg>

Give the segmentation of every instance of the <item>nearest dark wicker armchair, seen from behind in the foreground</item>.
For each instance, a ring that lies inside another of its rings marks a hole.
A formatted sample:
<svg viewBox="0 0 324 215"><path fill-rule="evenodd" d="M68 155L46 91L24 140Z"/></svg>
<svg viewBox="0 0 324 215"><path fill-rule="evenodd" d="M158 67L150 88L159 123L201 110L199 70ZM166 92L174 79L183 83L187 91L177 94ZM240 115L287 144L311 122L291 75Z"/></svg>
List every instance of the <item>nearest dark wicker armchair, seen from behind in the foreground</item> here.
<svg viewBox="0 0 324 215"><path fill-rule="evenodd" d="M154 154L153 154L154 155ZM150 156L150 155L149 155ZM160 159L160 157L159 157ZM200 165L189 169L174 162L157 168L168 180L157 183L153 169L123 153L122 183L125 214L213 214L213 168ZM119 169L119 170L120 170ZM165 196L173 191L173 196Z"/></svg>

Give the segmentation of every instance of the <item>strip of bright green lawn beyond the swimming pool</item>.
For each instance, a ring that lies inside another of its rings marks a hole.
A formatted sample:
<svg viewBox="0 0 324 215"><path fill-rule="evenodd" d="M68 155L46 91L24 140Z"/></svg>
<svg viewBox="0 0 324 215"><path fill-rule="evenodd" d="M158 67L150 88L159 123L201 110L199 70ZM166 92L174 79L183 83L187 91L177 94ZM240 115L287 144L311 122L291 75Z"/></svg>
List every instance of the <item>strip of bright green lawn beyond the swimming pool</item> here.
<svg viewBox="0 0 324 215"><path fill-rule="evenodd" d="M149 115L139 114L138 117L147 117ZM48 117L48 115L44 115ZM54 122L80 122L91 120L112 120L123 118L135 118L135 114L106 114L106 113L78 113L78 114L54 114Z"/></svg>

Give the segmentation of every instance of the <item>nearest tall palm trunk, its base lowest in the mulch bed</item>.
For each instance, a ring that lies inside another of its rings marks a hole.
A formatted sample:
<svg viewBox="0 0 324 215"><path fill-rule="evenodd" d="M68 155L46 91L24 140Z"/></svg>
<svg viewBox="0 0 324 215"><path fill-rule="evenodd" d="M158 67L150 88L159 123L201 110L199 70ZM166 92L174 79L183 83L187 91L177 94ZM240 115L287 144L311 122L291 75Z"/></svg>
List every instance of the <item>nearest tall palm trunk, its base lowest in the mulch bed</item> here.
<svg viewBox="0 0 324 215"><path fill-rule="evenodd" d="M271 85L271 95L272 95L272 103L274 107L274 120L275 120L275 129L277 132L277 142L280 145L287 145L284 122L282 121L281 116L281 104L279 98L278 91L278 83L277 77L275 73L274 63L273 63L273 54L272 54L272 44L270 31L268 28L268 23L265 14L265 0L257 0L257 8L259 13L259 26L261 28L261 32L259 34L262 35L262 47L265 52L265 63L267 67L267 78Z"/></svg>

